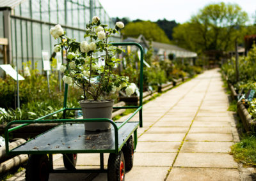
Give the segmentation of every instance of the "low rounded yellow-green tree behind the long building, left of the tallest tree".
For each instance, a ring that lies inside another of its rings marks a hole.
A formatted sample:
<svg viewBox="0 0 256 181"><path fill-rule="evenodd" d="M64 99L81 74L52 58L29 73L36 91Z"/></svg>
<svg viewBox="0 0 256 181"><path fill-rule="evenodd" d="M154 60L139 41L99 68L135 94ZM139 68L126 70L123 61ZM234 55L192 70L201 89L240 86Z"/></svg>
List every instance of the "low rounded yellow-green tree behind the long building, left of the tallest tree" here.
<svg viewBox="0 0 256 181"><path fill-rule="evenodd" d="M138 38L143 34L147 40L158 41L162 43L170 43L170 40L156 23L150 21L130 22L122 30L124 38Z"/></svg>

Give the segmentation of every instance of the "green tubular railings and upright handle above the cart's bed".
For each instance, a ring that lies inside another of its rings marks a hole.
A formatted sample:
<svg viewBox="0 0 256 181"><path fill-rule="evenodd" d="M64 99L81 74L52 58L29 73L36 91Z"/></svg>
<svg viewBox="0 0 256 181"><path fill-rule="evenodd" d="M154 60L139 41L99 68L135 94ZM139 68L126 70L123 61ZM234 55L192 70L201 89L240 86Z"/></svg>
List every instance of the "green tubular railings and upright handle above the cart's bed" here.
<svg viewBox="0 0 256 181"><path fill-rule="evenodd" d="M9 150L9 133L12 133L13 131L16 131L17 129L20 129L24 126L28 126L29 124L46 124L46 123L82 123L82 122L110 122L112 124L112 126L115 129L115 150L101 150L100 154L104 151L107 152L115 152L116 154L118 154L118 152L120 151L120 149L122 148L122 146L124 145L125 141L127 141L127 139L129 138L129 136L134 133L134 148L136 148L137 145L137 128L138 126L142 127L143 126L143 122L142 122L142 99L143 99L143 47L141 47L140 44L138 43L110 43L111 45L114 46L136 46L140 49L141 51L141 57L140 57L140 104L138 106L120 106L120 107L113 107L113 109L136 109L124 122L120 122L120 124L116 124L118 122L113 122L113 120L110 119L65 119L66 118L66 112L69 110L81 110L81 108L67 108L67 95L68 95L68 85L65 84L65 92L64 92L64 101L63 101L63 108L61 108L60 110L50 113L48 115L45 115L44 117L40 117L38 119L35 120L14 120L10 123L7 124L6 128L5 128L5 132L4 132L4 136L5 136L5 144L6 144L6 154L25 154L24 152L12 152L12 150L16 149L12 149ZM47 119L47 117L50 117L51 115L54 115L56 113L60 113L63 112L63 119ZM123 141L123 143L121 145L118 145L118 130L120 130L125 124L127 124L127 122L129 122L129 120L132 119L132 117L134 117L134 115L136 115L136 113L139 112L139 117L140 117L140 121L138 122L138 126L134 127L134 130L131 131L131 134L129 134L127 136L127 138L125 138L125 140ZM12 127L10 128L10 126L12 126L12 124L20 124L19 126L16 127ZM55 127L54 127L55 128ZM52 128L52 129L54 129ZM48 132L48 131L47 131ZM44 133L43 133L44 134ZM40 134L41 135L41 134ZM40 136L38 135L38 136ZM36 136L37 137L37 136ZM35 138L36 138L35 137ZM32 138L31 140L35 139ZM29 141L31 141L29 140ZM27 141L27 143L29 142ZM22 146L22 145L20 145ZM19 146L19 147L20 147ZM79 151L81 152L81 150ZM84 150L84 152L86 152L86 150ZM93 152L92 150L90 150L90 152ZM99 153L99 150L95 151L97 153ZM38 152L31 152L31 151L27 151L26 154L42 154L43 152L38 151ZM47 152L47 153L74 153L74 150L52 150L51 152ZM78 153L78 152L77 152Z"/></svg>

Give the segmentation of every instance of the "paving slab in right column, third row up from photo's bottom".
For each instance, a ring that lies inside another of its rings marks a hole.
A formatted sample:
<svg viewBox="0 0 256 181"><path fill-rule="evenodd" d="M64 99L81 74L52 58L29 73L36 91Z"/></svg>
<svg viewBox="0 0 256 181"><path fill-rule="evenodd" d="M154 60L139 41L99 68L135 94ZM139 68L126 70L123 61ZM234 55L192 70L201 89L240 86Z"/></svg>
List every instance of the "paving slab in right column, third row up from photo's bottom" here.
<svg viewBox="0 0 256 181"><path fill-rule="evenodd" d="M199 142L185 141L180 152L197 152L197 153L228 153L232 142Z"/></svg>

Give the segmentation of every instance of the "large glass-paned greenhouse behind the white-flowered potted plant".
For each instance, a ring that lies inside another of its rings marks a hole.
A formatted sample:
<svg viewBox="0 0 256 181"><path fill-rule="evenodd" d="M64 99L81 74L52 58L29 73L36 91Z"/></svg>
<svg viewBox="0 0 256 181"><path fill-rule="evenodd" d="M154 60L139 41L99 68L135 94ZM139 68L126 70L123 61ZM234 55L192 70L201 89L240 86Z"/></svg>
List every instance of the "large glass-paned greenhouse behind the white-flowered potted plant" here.
<svg viewBox="0 0 256 181"><path fill-rule="evenodd" d="M0 54L0 64L18 64L23 70L22 63L31 61L32 68L42 70L42 51L51 56L54 44L59 43L50 35L51 27L60 24L67 36L81 41L86 23L94 15L102 24L113 27L114 23L97 0L1 1L0 47L6 48L6 55Z"/></svg>

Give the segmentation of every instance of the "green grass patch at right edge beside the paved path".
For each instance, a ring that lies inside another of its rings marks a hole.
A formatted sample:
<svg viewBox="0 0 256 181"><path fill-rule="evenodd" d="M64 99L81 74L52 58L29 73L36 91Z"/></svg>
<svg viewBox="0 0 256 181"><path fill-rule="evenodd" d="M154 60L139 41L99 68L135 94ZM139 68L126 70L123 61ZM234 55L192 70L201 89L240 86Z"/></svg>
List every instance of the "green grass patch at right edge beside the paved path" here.
<svg viewBox="0 0 256 181"><path fill-rule="evenodd" d="M245 136L239 143L232 145L231 154L239 163L247 166L256 166L255 136Z"/></svg>

